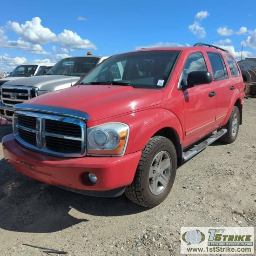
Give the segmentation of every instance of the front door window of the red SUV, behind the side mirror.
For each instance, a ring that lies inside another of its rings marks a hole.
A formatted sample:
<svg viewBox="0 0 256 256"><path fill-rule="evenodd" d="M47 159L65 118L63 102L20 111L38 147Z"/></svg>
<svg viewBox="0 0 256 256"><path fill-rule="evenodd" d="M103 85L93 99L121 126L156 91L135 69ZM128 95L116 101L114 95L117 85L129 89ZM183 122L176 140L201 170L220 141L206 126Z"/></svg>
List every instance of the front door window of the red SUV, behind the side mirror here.
<svg viewBox="0 0 256 256"><path fill-rule="evenodd" d="M188 85L188 75L192 71L207 71L202 53L189 55L181 75L181 85Z"/></svg>

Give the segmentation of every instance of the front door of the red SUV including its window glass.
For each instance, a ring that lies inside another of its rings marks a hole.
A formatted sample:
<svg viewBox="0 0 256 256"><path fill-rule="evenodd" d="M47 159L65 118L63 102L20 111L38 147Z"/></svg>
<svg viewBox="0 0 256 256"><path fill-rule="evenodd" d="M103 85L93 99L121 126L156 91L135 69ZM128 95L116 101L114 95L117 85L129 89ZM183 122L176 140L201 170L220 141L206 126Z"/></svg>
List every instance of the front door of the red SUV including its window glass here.
<svg viewBox="0 0 256 256"><path fill-rule="evenodd" d="M180 84L186 85L192 71L207 71L202 53L190 54L180 77ZM202 84L183 91L184 141L183 148L208 135L213 128L216 115L216 97L212 83Z"/></svg>

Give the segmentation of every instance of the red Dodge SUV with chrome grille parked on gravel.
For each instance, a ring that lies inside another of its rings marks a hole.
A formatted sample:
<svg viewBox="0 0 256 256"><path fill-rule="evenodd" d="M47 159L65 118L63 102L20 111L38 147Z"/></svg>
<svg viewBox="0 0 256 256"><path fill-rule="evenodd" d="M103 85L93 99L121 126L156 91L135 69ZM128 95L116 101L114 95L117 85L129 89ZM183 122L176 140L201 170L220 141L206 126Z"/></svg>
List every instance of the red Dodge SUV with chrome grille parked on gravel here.
<svg viewBox="0 0 256 256"><path fill-rule="evenodd" d="M244 83L212 45L140 49L103 61L75 86L14 106L5 159L64 189L155 207L177 166L217 139L236 140Z"/></svg>

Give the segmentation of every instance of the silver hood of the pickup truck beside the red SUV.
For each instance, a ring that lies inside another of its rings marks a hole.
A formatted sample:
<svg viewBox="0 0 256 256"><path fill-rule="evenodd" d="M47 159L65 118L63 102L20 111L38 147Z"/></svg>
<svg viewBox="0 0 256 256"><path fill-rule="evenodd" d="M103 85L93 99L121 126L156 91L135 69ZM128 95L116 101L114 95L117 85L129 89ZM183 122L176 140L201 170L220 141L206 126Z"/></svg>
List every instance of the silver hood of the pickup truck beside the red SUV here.
<svg viewBox="0 0 256 256"><path fill-rule="evenodd" d="M32 77L16 78L12 81L8 81L5 85L20 85L20 86L33 86L39 90L53 91L54 87L68 83L74 85L80 77L69 75L40 75Z"/></svg>

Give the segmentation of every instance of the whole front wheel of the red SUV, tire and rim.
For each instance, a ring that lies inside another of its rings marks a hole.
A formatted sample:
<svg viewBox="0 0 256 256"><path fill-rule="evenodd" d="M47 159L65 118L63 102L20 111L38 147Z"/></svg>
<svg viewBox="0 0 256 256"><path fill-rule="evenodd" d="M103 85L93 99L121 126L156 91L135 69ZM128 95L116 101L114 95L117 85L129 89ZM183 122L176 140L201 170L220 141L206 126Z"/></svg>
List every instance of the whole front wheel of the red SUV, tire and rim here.
<svg viewBox="0 0 256 256"><path fill-rule="evenodd" d="M135 177L126 196L137 204L153 208L165 200L175 180L177 155L169 139L155 136L142 151Z"/></svg>

